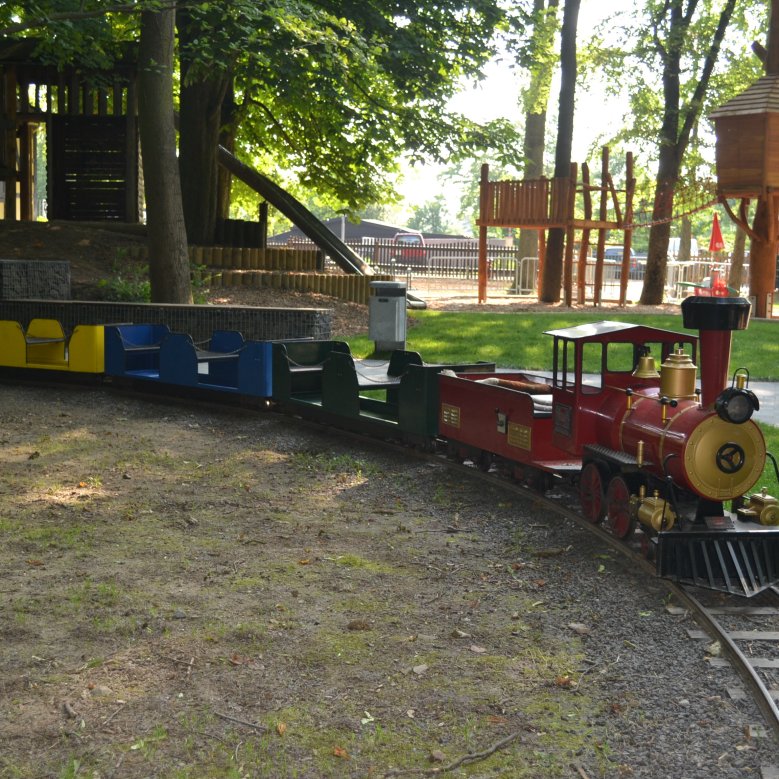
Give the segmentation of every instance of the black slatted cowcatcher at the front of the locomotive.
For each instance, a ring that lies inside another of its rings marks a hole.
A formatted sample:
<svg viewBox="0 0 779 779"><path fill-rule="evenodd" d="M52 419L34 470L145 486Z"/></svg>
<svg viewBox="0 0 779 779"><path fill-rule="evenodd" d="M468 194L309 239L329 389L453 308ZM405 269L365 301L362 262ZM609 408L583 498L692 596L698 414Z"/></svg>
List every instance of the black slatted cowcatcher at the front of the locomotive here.
<svg viewBox="0 0 779 779"><path fill-rule="evenodd" d="M777 584L779 529L737 521L660 533L656 562L665 579L749 598Z"/></svg>

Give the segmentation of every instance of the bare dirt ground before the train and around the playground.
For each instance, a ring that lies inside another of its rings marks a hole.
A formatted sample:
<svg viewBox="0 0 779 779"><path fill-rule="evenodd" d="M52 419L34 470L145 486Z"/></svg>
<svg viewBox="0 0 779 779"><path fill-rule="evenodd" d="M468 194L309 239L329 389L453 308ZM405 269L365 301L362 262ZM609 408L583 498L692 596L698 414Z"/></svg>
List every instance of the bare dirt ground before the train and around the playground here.
<svg viewBox="0 0 779 779"><path fill-rule="evenodd" d="M105 272L113 231L44 229L21 250L4 226L0 257ZM212 302L367 329L270 295ZM0 777L631 775L610 729L645 715L584 661L606 614L570 596L619 564L532 501L116 388L4 381L0 444Z"/></svg>

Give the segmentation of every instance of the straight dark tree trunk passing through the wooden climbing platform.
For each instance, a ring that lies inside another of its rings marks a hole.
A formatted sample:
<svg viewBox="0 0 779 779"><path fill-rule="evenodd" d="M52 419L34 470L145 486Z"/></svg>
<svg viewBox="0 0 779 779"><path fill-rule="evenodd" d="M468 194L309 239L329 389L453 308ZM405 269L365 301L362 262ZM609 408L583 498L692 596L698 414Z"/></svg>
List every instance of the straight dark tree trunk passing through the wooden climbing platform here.
<svg viewBox="0 0 779 779"><path fill-rule="evenodd" d="M566 178L571 172L571 148L573 146L573 115L576 98L576 27L581 0L565 0L563 29L560 42L560 103L557 119L557 146L555 148L555 178ZM575 186L575 182L571 182ZM556 227L549 231L541 280L539 299L543 303L560 300L560 283L563 277L563 250L565 229Z"/></svg>

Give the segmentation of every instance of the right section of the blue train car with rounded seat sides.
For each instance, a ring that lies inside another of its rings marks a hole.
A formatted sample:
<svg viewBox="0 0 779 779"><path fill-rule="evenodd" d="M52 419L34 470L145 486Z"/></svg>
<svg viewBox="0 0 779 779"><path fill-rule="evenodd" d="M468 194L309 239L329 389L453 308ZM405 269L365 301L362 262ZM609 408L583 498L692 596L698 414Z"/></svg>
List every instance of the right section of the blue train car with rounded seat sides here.
<svg viewBox="0 0 779 779"><path fill-rule="evenodd" d="M160 347L160 381L269 398L271 343L245 341L237 330L215 330L205 348L171 333Z"/></svg>

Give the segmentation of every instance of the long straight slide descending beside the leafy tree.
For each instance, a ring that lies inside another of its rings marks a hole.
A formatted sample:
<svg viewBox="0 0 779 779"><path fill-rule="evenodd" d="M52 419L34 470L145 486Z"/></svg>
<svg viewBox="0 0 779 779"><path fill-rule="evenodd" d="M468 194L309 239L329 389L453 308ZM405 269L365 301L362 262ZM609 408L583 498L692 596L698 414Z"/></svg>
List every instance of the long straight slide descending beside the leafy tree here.
<svg viewBox="0 0 779 779"><path fill-rule="evenodd" d="M361 276L373 276L373 268L352 251L335 233L328 230L297 198L271 181L267 176L244 165L224 146L218 149L219 164L227 168L255 192L259 192L274 208L281 211L305 236L313 241L341 270ZM410 308L426 308L423 300L407 294Z"/></svg>

